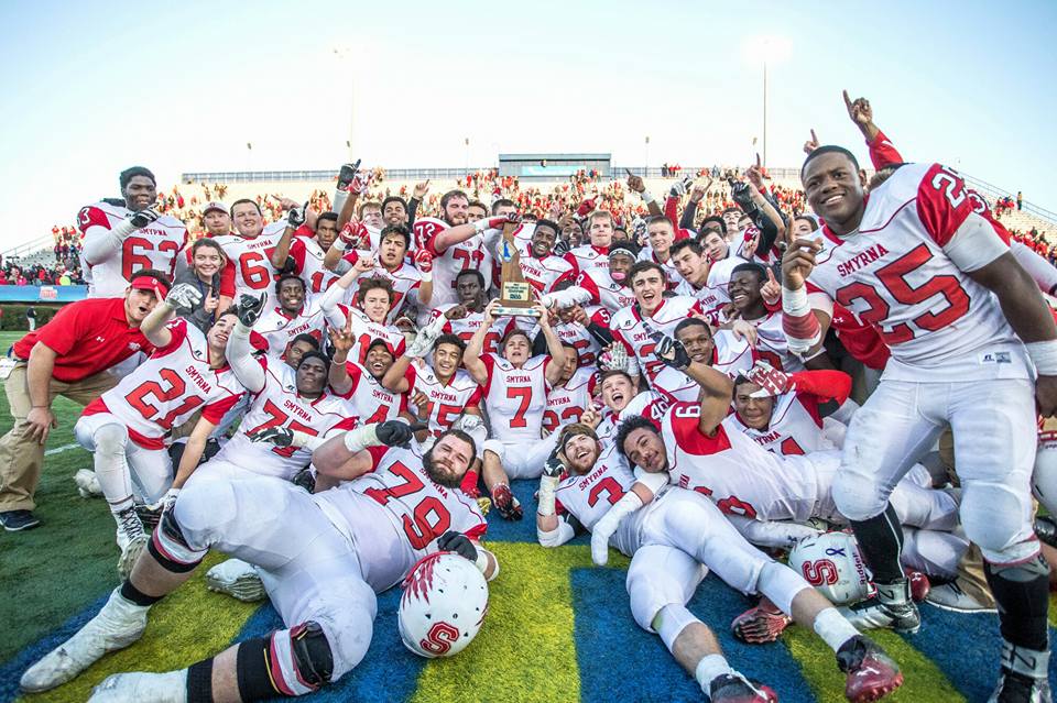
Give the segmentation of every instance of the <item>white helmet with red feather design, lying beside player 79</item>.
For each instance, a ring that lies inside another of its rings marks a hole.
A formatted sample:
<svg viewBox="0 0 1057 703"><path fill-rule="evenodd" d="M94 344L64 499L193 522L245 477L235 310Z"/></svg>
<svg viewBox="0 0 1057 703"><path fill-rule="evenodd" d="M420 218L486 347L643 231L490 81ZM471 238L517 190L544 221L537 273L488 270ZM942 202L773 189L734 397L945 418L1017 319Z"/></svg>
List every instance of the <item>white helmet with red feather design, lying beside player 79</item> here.
<svg viewBox="0 0 1057 703"><path fill-rule="evenodd" d="M404 580L400 638L421 657L450 657L473 641L487 614L484 574L456 553L433 553Z"/></svg>

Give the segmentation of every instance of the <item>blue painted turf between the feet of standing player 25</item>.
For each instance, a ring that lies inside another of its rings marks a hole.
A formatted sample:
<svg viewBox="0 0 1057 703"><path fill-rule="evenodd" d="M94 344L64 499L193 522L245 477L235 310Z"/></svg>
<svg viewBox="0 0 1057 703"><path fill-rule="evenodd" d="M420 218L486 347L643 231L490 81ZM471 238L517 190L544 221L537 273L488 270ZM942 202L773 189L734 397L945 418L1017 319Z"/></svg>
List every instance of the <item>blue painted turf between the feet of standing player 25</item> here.
<svg viewBox="0 0 1057 703"><path fill-rule="evenodd" d="M951 613L927 603L918 606L922 629L905 635L912 647L931 659L969 701L985 701L998 682L1002 638L993 613ZM1057 630L1049 628L1053 642ZM1057 681L1057 658L1049 661L1049 680Z"/></svg>

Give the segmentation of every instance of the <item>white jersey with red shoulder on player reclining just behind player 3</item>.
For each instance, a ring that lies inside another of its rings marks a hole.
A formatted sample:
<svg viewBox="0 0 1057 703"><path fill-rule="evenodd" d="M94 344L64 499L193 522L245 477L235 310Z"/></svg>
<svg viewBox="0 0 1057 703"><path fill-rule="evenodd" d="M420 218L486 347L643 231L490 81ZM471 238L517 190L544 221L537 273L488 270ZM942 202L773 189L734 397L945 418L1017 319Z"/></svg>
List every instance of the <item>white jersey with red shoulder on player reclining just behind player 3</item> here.
<svg viewBox="0 0 1057 703"><path fill-rule="evenodd" d="M713 437L698 429L701 406L676 403L661 421L661 436L674 485L704 493L729 515L760 520L811 517L818 483L802 457L783 460L742 433L730 417Z"/></svg>

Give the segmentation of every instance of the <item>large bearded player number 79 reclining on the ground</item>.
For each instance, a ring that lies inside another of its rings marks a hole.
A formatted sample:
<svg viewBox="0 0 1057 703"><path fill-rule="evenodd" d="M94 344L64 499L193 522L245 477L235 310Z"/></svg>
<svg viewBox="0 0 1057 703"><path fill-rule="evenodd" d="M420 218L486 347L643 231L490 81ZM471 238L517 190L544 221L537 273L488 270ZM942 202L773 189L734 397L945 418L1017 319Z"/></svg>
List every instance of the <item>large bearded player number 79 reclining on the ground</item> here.
<svg viewBox="0 0 1057 703"><path fill-rule="evenodd" d="M458 490L476 453L473 440L453 430L419 455L400 448L412 429L391 420L326 441L273 430L276 441L315 447L320 472L361 476L322 494L271 479L189 484L129 579L76 635L26 670L22 689L53 689L138 640L151 605L187 581L210 549L260 568L286 628L186 669L109 677L91 701L259 701L310 693L360 662L371 641L375 594L401 583L426 554L455 551L494 578L499 563L477 543L484 517ZM380 447L389 449L372 449Z"/></svg>

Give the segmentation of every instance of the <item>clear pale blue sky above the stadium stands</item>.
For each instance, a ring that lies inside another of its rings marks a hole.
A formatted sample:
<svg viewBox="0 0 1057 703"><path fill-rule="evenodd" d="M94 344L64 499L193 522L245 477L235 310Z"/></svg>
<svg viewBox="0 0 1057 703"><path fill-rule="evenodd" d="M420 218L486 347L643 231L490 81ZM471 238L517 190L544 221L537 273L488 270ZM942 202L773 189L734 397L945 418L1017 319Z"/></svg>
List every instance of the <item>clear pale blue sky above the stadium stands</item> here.
<svg viewBox="0 0 1057 703"><path fill-rule="evenodd" d="M350 139L390 167L534 151L642 164L646 135L651 165L748 165L767 51L770 166L799 165L810 128L865 161L848 88L908 161L1057 210L1055 2L100 7L0 3L0 250L117 196L133 164L160 187L188 171L337 168Z"/></svg>

